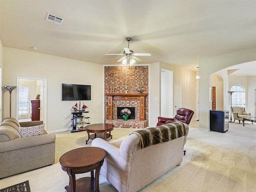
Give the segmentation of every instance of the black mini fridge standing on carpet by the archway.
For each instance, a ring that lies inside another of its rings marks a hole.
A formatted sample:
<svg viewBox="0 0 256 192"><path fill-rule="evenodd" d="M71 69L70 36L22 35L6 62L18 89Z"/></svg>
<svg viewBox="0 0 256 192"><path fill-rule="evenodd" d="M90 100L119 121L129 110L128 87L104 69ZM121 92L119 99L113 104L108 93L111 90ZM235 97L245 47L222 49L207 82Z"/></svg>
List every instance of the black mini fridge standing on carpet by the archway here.
<svg viewBox="0 0 256 192"><path fill-rule="evenodd" d="M221 133L228 131L228 110L210 110L210 130Z"/></svg>

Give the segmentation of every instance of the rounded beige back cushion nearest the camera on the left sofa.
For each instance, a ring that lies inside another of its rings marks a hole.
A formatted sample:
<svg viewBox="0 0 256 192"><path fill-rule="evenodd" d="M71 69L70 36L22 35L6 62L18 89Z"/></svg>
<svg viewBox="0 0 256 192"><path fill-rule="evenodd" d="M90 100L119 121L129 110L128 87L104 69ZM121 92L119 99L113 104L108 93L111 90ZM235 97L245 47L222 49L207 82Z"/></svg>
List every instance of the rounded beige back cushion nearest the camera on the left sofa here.
<svg viewBox="0 0 256 192"><path fill-rule="evenodd" d="M0 142L6 142L17 138L20 138L20 133L15 128L8 125L0 126Z"/></svg>

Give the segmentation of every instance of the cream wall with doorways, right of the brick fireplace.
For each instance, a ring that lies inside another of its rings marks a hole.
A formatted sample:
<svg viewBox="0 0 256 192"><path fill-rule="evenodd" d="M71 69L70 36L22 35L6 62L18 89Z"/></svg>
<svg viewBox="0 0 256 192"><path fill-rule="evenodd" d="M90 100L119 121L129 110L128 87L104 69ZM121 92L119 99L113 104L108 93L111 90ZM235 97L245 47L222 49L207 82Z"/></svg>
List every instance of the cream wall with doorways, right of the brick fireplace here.
<svg viewBox="0 0 256 192"><path fill-rule="evenodd" d="M173 72L173 84L182 85L182 107L193 110L196 114L196 72L170 64L150 64L150 126L156 126L161 111L161 69ZM172 90L174 93L174 90ZM172 100L174 102L174 98ZM175 115L176 112L173 112ZM196 115L193 119L196 119Z"/></svg>

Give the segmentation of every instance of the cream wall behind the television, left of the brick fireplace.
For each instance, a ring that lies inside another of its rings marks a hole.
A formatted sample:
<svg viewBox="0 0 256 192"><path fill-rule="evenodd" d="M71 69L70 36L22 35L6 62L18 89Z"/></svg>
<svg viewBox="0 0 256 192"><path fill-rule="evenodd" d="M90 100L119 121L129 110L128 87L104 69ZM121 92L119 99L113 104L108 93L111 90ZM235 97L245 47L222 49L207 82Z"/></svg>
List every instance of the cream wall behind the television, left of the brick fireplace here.
<svg viewBox="0 0 256 192"><path fill-rule="evenodd" d="M89 84L92 100L88 106L90 122L102 123L102 65L3 47L3 84L16 85L16 77L47 79L47 131L71 128L72 106L76 101L61 101L61 84ZM3 114L9 116L9 92L3 92ZM16 118L16 91L12 93L12 117ZM18 118L18 117L17 117Z"/></svg>

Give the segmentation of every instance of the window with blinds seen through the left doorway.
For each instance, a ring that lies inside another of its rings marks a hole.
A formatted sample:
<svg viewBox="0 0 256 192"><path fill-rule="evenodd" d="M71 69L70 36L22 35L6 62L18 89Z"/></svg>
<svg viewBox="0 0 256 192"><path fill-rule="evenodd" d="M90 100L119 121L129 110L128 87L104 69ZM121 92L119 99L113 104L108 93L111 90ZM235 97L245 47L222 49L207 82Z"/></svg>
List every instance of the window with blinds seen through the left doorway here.
<svg viewBox="0 0 256 192"><path fill-rule="evenodd" d="M19 115L28 114L29 105L29 88L19 87Z"/></svg>

